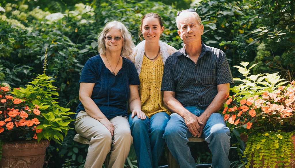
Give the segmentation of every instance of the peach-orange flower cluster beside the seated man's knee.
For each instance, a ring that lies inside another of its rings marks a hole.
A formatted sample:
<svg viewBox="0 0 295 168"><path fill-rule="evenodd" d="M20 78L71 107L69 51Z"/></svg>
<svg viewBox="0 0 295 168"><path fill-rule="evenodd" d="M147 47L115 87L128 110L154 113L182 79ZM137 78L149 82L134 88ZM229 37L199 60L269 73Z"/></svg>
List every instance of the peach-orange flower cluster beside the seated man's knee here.
<svg viewBox="0 0 295 168"><path fill-rule="evenodd" d="M249 98L226 97L224 121L232 127L246 124L246 128L263 127L265 123L295 122L295 81L288 87L281 86L274 93L263 92ZM254 124L255 123L255 124ZM254 124L254 125L252 125Z"/></svg>

